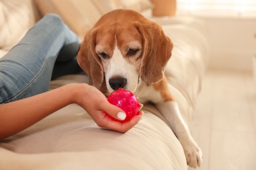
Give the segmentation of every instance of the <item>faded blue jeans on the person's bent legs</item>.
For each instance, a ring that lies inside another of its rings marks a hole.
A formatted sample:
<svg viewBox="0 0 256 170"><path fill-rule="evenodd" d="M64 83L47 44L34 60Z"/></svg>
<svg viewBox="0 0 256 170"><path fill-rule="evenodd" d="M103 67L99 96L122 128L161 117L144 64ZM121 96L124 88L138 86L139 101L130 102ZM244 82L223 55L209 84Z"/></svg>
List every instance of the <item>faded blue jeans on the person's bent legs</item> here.
<svg viewBox="0 0 256 170"><path fill-rule="evenodd" d="M0 59L0 103L49 90L54 65L77 71L79 39L59 16L47 14ZM56 61L56 62L55 62ZM58 69L55 71L58 75ZM61 72L61 71L60 71ZM62 74L60 74L62 75Z"/></svg>

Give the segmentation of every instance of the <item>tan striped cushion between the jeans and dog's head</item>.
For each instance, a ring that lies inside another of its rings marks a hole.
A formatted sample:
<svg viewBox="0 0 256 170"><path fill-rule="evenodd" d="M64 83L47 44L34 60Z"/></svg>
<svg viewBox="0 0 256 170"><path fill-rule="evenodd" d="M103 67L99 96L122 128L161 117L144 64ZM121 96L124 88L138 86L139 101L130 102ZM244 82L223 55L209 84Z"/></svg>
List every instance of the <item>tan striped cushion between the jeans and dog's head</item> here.
<svg viewBox="0 0 256 170"><path fill-rule="evenodd" d="M83 39L85 32L100 18L101 14L91 1L35 0L41 15L58 14L64 22Z"/></svg>

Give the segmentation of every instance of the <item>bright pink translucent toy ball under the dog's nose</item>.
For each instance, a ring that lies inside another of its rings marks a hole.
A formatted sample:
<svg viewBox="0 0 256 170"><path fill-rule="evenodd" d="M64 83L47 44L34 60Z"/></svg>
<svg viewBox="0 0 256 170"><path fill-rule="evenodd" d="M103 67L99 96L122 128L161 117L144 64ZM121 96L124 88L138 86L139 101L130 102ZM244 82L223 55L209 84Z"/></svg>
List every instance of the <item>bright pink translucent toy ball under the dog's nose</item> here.
<svg viewBox="0 0 256 170"><path fill-rule="evenodd" d="M117 120L109 114L106 114L109 118L118 122L127 122L131 120L133 116L139 114L140 108L142 107L142 105L140 105L137 97L133 94L133 92L123 90L123 88L119 88L118 90L110 93L110 95L108 96L108 102L112 105L116 105L117 107L125 111L125 120Z"/></svg>

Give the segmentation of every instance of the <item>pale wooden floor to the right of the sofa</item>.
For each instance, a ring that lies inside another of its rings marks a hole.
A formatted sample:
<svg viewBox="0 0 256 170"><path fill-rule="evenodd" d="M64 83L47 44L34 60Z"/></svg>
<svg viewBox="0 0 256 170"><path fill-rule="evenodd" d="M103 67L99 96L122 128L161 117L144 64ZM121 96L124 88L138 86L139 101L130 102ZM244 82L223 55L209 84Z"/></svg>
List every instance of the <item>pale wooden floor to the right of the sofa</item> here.
<svg viewBox="0 0 256 170"><path fill-rule="evenodd" d="M250 73L209 70L191 127L203 170L256 169L256 85Z"/></svg>

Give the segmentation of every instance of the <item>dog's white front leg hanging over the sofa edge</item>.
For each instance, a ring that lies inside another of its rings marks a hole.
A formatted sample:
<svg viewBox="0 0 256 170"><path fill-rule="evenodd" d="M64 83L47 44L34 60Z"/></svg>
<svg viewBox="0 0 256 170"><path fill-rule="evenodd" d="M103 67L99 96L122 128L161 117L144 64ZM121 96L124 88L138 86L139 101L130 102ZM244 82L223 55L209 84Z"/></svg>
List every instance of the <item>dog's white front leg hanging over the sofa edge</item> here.
<svg viewBox="0 0 256 170"><path fill-rule="evenodd" d="M188 165L190 167L199 167L202 163L202 150L190 135L177 103L175 101L161 101L156 107L167 119L169 126L181 142Z"/></svg>

